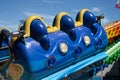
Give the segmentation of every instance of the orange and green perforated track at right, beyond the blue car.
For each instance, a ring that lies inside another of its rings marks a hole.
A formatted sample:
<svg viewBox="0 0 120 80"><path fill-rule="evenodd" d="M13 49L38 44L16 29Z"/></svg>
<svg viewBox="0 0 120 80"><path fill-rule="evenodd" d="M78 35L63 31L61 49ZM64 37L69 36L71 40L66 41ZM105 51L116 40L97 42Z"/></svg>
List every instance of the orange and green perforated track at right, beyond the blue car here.
<svg viewBox="0 0 120 80"><path fill-rule="evenodd" d="M120 20L111 22L104 26L109 44L105 49L108 57L105 63L112 64L114 61L120 59Z"/></svg>

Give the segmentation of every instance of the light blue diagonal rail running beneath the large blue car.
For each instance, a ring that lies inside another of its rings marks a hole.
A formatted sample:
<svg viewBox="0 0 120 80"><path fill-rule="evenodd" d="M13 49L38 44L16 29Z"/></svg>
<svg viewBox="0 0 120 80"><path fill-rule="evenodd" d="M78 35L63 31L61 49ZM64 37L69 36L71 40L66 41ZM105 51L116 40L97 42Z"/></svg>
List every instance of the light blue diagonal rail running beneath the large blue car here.
<svg viewBox="0 0 120 80"><path fill-rule="evenodd" d="M78 63L76 63L74 65L66 67L65 69L63 69L61 71L58 71L58 72L56 72L56 73L54 73L54 74L52 74L52 75L50 75L50 76L48 76L46 78L43 78L42 80L59 80L59 79L61 79L63 77L68 76L71 73L74 73L74 72L76 72L76 71L78 71L78 70L80 70L80 69L82 69L82 68L84 68L84 67L86 67L86 66L88 66L90 64L93 64L93 63L95 63L95 62L97 62L99 60L102 60L102 59L104 59L106 57L107 57L106 53L104 53L104 52L99 53L99 54L97 54L95 56L92 56L92 57L89 57L89 58L87 58L85 60L82 60L82 61L80 61L80 62L78 62Z"/></svg>

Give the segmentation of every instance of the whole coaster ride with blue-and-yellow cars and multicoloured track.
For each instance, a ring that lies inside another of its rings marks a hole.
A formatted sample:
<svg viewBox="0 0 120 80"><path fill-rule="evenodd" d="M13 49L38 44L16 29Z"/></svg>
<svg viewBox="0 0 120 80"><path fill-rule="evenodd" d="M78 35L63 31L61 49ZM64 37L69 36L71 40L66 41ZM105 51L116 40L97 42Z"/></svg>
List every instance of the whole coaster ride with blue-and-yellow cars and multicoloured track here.
<svg viewBox="0 0 120 80"><path fill-rule="evenodd" d="M120 59L120 21L104 27L103 16L66 12L53 25L30 16L17 32L0 30L0 80L86 80ZM85 75L87 74L87 75ZM85 76L85 77L84 77Z"/></svg>

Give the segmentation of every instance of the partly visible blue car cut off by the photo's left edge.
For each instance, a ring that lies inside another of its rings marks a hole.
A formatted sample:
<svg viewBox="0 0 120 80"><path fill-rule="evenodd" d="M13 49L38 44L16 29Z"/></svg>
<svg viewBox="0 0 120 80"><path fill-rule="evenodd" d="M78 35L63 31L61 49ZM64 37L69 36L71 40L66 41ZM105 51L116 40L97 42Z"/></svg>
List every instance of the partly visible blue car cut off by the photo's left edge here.
<svg viewBox="0 0 120 80"><path fill-rule="evenodd" d="M0 75L4 78L6 77L6 69L11 61L9 39L11 39L10 32L6 29L2 29L0 32Z"/></svg>

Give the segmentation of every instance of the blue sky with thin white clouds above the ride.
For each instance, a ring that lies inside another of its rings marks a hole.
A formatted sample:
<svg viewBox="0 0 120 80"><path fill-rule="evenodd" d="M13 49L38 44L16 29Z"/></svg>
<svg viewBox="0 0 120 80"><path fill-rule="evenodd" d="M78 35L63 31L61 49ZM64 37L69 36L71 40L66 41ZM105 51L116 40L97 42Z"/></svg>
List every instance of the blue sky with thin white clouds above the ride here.
<svg viewBox="0 0 120 80"><path fill-rule="evenodd" d="M41 16L47 25L52 25L54 17L63 11L75 20L77 13L84 8L95 16L104 14L102 25L105 25L120 20L116 3L117 0L0 0L0 28L17 31L20 20L31 15Z"/></svg>

